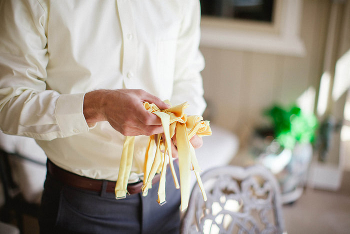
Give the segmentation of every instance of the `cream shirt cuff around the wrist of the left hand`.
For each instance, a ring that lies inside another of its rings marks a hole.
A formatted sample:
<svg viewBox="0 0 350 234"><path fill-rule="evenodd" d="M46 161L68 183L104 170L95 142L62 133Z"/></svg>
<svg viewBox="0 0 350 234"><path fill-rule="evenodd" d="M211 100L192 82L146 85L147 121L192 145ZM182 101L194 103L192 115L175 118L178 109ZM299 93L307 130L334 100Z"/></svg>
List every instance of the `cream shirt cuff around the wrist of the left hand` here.
<svg viewBox="0 0 350 234"><path fill-rule="evenodd" d="M61 94L57 100L55 117L64 137L89 130L82 113L84 95L84 93Z"/></svg>

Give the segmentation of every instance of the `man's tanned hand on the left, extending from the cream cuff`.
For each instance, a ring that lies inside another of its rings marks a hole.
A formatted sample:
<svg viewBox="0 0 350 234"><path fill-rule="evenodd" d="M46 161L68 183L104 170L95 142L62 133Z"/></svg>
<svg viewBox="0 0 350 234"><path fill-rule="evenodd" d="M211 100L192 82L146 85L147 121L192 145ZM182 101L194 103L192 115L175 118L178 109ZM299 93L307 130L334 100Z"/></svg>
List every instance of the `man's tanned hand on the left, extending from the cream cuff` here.
<svg viewBox="0 0 350 234"><path fill-rule="evenodd" d="M154 103L160 109L170 107L139 89L95 90L85 94L83 114L88 125L108 121L124 136L162 133L160 119L143 107L145 101Z"/></svg>

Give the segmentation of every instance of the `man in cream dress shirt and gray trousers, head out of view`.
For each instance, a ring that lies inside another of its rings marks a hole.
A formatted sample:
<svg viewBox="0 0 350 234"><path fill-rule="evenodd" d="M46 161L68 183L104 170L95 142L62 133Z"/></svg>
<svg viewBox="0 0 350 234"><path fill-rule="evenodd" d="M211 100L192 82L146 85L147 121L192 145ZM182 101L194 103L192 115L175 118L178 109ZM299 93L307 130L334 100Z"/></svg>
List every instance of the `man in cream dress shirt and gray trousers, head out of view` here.
<svg viewBox="0 0 350 234"><path fill-rule="evenodd" d="M1 130L36 139L48 158L40 231L178 232L171 176L163 206L156 189L116 200L109 186L125 136L137 136L131 191L147 136L163 131L143 102L205 108L198 1L2 0L0 18Z"/></svg>

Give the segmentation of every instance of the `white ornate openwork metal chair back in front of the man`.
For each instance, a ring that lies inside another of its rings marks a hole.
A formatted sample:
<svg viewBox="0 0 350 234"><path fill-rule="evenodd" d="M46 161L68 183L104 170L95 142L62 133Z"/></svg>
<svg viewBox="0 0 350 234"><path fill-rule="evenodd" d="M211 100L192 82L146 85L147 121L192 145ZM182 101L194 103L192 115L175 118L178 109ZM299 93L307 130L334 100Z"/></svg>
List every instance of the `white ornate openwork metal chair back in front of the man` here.
<svg viewBox="0 0 350 234"><path fill-rule="evenodd" d="M195 185L181 233L282 233L279 185L261 165L222 166L201 175L207 200Z"/></svg>

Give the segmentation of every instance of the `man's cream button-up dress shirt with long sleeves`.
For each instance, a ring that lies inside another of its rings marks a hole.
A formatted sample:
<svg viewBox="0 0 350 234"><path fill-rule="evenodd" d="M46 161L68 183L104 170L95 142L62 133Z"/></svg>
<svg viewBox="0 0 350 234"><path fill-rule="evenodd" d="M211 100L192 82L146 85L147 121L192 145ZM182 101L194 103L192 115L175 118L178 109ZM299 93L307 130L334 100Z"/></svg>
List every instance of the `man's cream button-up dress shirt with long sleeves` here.
<svg viewBox="0 0 350 234"><path fill-rule="evenodd" d="M125 137L87 126L84 94L143 89L201 114L199 21L197 0L1 1L1 130L36 139L66 170L116 180ZM136 137L132 181L146 143Z"/></svg>

